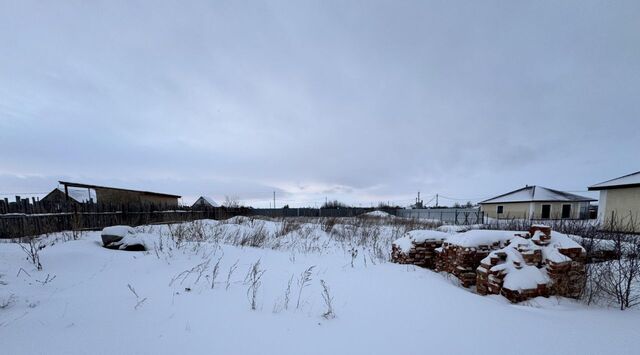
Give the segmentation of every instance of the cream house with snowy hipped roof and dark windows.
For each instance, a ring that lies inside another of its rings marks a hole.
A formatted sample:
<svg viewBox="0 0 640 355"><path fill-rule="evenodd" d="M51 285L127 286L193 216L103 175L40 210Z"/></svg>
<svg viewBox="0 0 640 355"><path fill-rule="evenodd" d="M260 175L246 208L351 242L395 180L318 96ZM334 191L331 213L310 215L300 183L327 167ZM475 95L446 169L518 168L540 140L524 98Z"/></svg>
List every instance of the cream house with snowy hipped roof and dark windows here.
<svg viewBox="0 0 640 355"><path fill-rule="evenodd" d="M514 219L585 219L592 198L542 186L526 186L480 202L486 217Z"/></svg>

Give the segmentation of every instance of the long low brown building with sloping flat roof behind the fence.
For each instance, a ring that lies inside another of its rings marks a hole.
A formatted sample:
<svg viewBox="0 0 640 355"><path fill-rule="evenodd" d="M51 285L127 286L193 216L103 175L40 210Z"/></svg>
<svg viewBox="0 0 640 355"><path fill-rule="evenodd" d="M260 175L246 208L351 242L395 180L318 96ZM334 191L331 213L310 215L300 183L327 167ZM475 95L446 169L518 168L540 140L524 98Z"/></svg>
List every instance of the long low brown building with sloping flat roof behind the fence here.
<svg viewBox="0 0 640 355"><path fill-rule="evenodd" d="M75 182L59 181L63 186L60 190L63 193L64 200L74 202L73 197L76 194L75 191L85 191L85 193L95 193L95 201L101 204L113 204L113 205L160 205L165 207L177 207L178 199L182 196L171 195L160 192L140 191L122 189L118 187L98 186L80 184ZM59 199L59 194L52 192L51 200ZM51 194L50 194L51 195ZM49 195L47 195L49 196ZM46 198L46 197L45 197ZM43 199L44 200L44 199Z"/></svg>

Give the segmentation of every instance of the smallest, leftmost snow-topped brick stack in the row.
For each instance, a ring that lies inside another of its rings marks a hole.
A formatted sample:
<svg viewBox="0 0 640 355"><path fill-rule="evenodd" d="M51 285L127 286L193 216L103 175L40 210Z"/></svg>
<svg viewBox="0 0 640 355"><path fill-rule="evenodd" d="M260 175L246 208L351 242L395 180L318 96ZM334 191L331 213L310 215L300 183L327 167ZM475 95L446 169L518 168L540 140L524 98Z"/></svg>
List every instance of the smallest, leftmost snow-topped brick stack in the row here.
<svg viewBox="0 0 640 355"><path fill-rule="evenodd" d="M434 230L413 230L397 239L391 246L391 260L398 264L413 264L435 268L436 249L450 235Z"/></svg>

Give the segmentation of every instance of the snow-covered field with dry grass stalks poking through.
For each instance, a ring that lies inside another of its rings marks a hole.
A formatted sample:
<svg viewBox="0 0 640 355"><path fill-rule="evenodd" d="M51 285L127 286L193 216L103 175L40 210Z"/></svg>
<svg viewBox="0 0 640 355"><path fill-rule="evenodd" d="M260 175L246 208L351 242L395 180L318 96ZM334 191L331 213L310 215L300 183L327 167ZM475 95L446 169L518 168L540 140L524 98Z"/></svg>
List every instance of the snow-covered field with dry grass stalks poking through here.
<svg viewBox="0 0 640 355"><path fill-rule="evenodd" d="M103 248L99 232L59 234L41 241L42 271L0 243L0 305L11 300L0 309L0 353L638 353L638 310L512 305L388 262L391 241L420 228L384 217L136 228L148 252Z"/></svg>

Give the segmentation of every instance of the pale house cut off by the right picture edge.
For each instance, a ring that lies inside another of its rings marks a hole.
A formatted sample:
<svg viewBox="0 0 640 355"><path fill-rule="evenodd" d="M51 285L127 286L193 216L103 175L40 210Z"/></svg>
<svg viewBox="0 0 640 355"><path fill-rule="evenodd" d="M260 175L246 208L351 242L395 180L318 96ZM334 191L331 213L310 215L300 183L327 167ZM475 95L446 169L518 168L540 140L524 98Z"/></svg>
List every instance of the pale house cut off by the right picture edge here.
<svg viewBox="0 0 640 355"><path fill-rule="evenodd" d="M598 220L605 228L640 231L640 171L589 186L600 191Z"/></svg>

